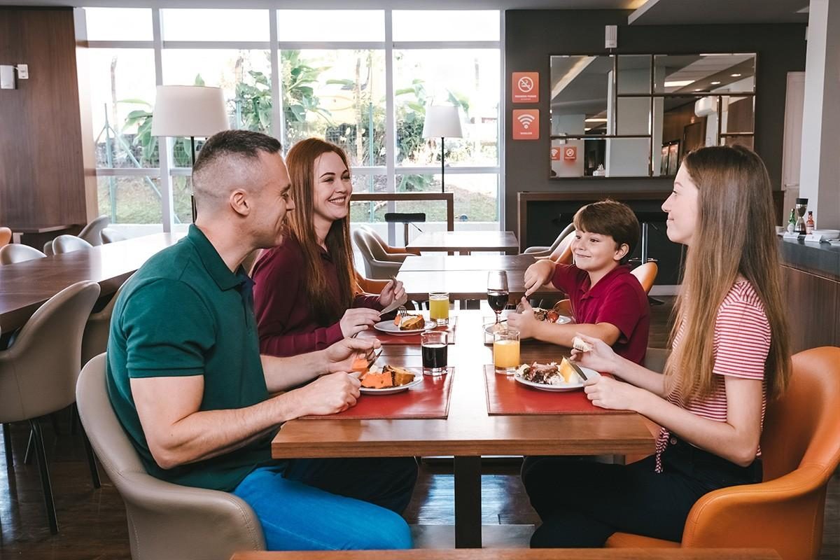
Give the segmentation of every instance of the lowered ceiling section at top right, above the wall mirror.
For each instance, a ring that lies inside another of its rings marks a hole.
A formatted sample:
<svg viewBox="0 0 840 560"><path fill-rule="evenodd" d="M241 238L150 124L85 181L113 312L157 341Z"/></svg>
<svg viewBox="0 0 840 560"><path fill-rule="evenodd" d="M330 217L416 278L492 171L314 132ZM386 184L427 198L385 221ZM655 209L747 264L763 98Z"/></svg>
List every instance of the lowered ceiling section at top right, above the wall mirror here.
<svg viewBox="0 0 840 560"><path fill-rule="evenodd" d="M808 0L647 0L627 21L633 25L807 24L807 8Z"/></svg>

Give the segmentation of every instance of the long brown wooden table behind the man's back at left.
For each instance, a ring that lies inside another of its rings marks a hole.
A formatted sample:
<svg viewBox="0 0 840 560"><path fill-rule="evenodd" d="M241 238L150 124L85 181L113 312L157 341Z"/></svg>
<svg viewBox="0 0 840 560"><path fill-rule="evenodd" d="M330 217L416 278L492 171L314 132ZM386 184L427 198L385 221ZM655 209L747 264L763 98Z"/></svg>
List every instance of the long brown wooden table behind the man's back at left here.
<svg viewBox="0 0 840 560"><path fill-rule="evenodd" d="M3 332L23 327L50 297L81 281L96 282L100 296L113 294L153 254L186 233L154 233L0 266L0 326Z"/></svg>

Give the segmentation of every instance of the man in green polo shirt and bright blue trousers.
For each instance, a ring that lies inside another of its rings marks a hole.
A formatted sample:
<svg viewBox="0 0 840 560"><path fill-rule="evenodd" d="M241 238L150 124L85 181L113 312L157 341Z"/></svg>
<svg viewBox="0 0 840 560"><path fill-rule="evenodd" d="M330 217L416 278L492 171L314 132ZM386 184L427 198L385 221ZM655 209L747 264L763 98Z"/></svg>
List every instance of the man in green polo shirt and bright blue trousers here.
<svg viewBox="0 0 840 560"><path fill-rule="evenodd" d="M108 395L150 474L239 495L270 549L411 547L391 504L407 503L413 464L389 460L376 468L383 482L365 486L353 482L370 468L365 459L270 458L282 422L355 404L360 383L346 372L378 345L346 338L320 352L260 356L241 264L281 241L294 209L280 151L276 139L240 130L204 144L192 171L195 225L149 259L114 306Z"/></svg>

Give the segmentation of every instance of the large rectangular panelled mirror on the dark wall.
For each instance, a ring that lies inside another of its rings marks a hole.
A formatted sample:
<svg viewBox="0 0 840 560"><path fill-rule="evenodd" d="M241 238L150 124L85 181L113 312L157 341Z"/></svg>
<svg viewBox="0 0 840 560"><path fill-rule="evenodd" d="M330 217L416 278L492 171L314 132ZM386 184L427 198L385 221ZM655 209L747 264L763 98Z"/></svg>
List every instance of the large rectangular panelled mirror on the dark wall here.
<svg viewBox="0 0 840 560"><path fill-rule="evenodd" d="M754 53L550 63L552 179L675 175L692 149L753 147Z"/></svg>

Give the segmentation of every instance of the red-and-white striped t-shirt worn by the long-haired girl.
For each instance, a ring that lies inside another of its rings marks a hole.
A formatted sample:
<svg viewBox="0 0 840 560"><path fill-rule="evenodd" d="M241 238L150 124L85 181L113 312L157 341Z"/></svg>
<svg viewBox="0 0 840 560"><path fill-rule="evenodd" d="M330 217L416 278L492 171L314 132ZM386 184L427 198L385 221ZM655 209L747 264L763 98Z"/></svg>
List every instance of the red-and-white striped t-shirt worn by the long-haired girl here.
<svg viewBox="0 0 840 560"><path fill-rule="evenodd" d="M678 348L683 338L685 324L674 338L674 348ZM670 403L680 406L708 420L727 421L727 388L722 375L732 375L743 379L761 379L761 427L764 427L764 411L767 408L767 386L764 383L764 364L770 349L770 325L764 312L764 304L747 280L732 285L723 298L715 318L713 373L717 374L711 395L701 400L682 402L682 384L678 381L675 389L668 395ZM668 446L670 433L665 428L659 431L656 441L656 470L662 471L660 456ZM759 447L756 456L761 455Z"/></svg>

